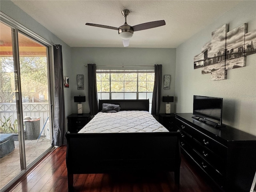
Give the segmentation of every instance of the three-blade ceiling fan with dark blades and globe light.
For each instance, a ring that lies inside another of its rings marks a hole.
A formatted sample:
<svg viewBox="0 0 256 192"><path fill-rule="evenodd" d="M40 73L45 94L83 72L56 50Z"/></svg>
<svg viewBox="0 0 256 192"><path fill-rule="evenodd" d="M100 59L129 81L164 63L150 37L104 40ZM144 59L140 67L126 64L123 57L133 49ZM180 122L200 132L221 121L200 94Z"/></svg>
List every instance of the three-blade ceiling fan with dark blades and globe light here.
<svg viewBox="0 0 256 192"><path fill-rule="evenodd" d="M122 15L125 18L125 22L119 28L106 26L106 25L93 24L93 23L86 23L86 25L118 30L119 36L123 39L124 47L129 46L129 40L132 37L134 31L140 31L140 30L145 30L145 29L150 29L150 28L160 27L160 26L165 25L164 20L159 20L159 21L152 21L152 22L147 22L147 23L130 26L126 22L126 17L128 16L129 13L130 13L130 11L127 9L122 10Z"/></svg>

